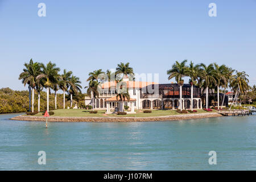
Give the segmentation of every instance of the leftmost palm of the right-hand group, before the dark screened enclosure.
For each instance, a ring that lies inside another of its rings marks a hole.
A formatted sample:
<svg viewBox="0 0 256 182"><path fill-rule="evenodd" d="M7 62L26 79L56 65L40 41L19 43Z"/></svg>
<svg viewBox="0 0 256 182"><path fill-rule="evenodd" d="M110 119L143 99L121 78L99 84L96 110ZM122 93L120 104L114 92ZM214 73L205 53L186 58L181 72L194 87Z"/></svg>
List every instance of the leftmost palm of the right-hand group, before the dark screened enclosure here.
<svg viewBox="0 0 256 182"><path fill-rule="evenodd" d="M187 67L186 64L187 60L182 61L179 63L176 61L174 65L172 65L172 69L169 69L167 71L167 75L169 75L168 80L171 80L171 78L175 77L175 80L177 84L180 86L180 110L182 110L182 86L184 83L184 80L182 78L186 76Z"/></svg>

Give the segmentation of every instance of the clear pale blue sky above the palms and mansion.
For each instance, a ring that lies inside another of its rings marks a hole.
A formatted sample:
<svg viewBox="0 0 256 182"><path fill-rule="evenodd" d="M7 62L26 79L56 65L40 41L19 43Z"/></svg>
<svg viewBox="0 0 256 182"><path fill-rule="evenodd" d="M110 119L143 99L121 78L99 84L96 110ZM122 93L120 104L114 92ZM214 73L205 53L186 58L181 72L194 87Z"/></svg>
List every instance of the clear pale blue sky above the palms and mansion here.
<svg viewBox="0 0 256 182"><path fill-rule="evenodd" d="M217 17L208 15L211 2ZM83 87L89 72L121 61L167 83L167 69L184 59L229 65L256 84L255 0L0 0L0 22L0 88L27 89L18 76L31 58L73 71Z"/></svg>

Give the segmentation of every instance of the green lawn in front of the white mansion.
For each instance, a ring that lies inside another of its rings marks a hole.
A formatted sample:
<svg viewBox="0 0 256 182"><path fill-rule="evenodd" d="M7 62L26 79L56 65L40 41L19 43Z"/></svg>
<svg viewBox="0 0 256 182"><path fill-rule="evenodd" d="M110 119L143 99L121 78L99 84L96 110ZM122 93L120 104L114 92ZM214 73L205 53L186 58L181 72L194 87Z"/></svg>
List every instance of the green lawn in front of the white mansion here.
<svg viewBox="0 0 256 182"><path fill-rule="evenodd" d="M156 116L164 116L164 115L181 115L177 113L175 110L152 110L152 113L143 113L143 110L135 110L136 114L127 114L127 115L115 115L115 114L105 114L106 110L98 110L97 114L89 113L90 110L83 109L57 109L54 110L54 115L56 117L156 117ZM216 112L213 110L212 112ZM209 112L209 113L212 113ZM197 110L197 113L207 113L204 110ZM195 113L195 114L197 114ZM193 114L193 113L187 113ZM42 113L38 113L35 116L42 116Z"/></svg>

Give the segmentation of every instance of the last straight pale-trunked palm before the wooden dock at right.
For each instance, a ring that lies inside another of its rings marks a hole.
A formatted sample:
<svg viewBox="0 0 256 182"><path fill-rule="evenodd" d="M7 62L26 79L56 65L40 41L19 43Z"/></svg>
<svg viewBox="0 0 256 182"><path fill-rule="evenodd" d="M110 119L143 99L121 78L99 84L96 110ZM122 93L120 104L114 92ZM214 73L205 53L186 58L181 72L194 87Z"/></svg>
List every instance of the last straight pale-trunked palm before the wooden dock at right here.
<svg viewBox="0 0 256 182"><path fill-rule="evenodd" d="M226 80L226 65L222 64L221 66L219 66L217 63L214 63L214 68L215 68L215 72L216 74L214 74L215 76L215 80L217 82L217 100L218 100L218 109L220 109L220 86L224 86L226 85L226 82L228 82L228 80Z"/></svg>

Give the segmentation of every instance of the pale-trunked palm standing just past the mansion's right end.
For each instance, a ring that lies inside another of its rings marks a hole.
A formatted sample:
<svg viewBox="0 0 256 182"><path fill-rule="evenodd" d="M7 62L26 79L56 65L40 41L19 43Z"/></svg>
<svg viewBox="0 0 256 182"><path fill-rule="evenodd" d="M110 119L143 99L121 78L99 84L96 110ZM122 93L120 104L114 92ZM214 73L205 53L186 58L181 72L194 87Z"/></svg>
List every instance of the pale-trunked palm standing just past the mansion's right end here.
<svg viewBox="0 0 256 182"><path fill-rule="evenodd" d="M208 66L201 63L201 77L204 80L204 88L206 88L206 109L208 109L208 89L211 85L216 85L217 81L215 80L216 72L214 70L213 64L209 64Z"/></svg>

